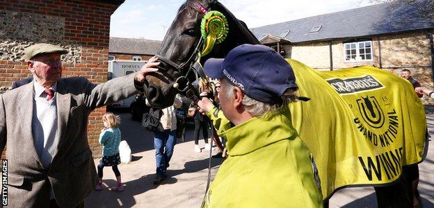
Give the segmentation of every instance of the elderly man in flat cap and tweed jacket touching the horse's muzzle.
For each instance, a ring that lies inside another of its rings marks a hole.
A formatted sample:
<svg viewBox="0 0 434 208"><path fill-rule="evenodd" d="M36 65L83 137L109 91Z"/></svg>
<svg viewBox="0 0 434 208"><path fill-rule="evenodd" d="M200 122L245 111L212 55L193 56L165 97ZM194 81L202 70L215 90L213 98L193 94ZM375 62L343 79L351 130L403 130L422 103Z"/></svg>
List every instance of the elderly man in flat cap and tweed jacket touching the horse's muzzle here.
<svg viewBox="0 0 434 208"><path fill-rule="evenodd" d="M33 81L0 95L10 207L83 207L97 182L87 137L90 112L137 94L159 64L151 58L138 73L95 85L83 77L61 78L67 52L51 44L26 48Z"/></svg>

